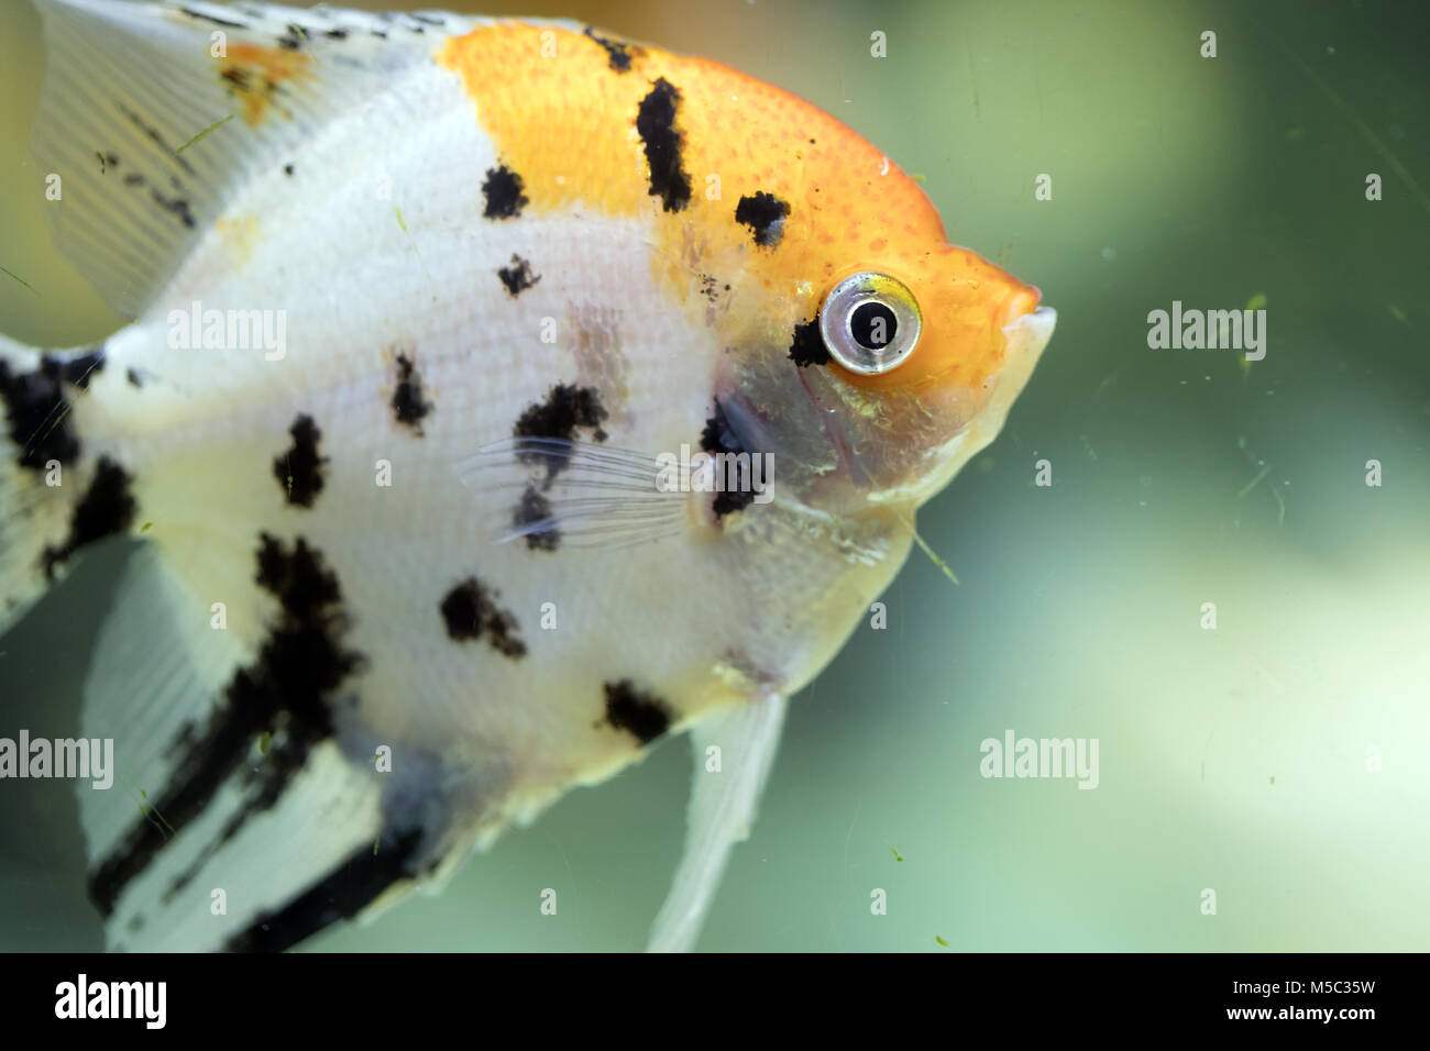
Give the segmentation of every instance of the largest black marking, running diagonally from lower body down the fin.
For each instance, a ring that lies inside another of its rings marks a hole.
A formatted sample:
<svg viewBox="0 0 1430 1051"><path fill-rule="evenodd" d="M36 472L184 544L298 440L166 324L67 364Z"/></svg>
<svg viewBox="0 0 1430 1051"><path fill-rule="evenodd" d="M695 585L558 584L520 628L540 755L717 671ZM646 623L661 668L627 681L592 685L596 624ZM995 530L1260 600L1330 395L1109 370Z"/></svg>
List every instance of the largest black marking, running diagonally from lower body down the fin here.
<svg viewBox="0 0 1430 1051"><path fill-rule="evenodd" d="M134 822L90 875L90 897L106 917L124 885L163 849L169 829L183 829L196 819L233 774L243 771L243 804L174 878L166 899L183 889L247 818L272 808L313 746L332 736L327 696L363 665L360 653L343 648L350 621L337 576L317 551L299 538L289 552L273 536L260 533L256 561L255 581L277 599L279 619L255 663L235 672L206 724L187 724L174 741L172 751L182 759L150 804L164 824ZM269 749L252 768L247 756L263 734L270 735Z"/></svg>

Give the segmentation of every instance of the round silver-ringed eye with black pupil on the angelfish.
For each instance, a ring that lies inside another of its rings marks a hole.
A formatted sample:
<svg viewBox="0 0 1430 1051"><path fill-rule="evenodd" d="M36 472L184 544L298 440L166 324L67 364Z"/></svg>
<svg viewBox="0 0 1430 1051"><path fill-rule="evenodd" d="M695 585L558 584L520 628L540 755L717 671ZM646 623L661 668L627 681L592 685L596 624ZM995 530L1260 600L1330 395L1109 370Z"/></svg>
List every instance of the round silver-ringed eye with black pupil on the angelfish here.
<svg viewBox="0 0 1430 1051"><path fill-rule="evenodd" d="M908 360L921 323L908 286L872 270L835 285L819 310L819 335L829 355L861 376L877 376Z"/></svg>

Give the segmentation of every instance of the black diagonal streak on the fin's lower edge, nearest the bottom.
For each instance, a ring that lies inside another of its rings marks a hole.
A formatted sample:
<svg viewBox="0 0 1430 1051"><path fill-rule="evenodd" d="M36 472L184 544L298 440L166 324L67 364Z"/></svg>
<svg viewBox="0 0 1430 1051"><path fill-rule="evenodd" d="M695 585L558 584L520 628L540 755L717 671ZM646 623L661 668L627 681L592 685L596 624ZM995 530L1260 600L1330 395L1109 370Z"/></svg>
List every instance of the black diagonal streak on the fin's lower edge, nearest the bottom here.
<svg viewBox="0 0 1430 1051"><path fill-rule="evenodd" d="M399 879L413 875L420 828L385 831L379 849L359 847L323 879L276 912L260 912L229 938L227 952L282 952L339 919L352 919Z"/></svg>

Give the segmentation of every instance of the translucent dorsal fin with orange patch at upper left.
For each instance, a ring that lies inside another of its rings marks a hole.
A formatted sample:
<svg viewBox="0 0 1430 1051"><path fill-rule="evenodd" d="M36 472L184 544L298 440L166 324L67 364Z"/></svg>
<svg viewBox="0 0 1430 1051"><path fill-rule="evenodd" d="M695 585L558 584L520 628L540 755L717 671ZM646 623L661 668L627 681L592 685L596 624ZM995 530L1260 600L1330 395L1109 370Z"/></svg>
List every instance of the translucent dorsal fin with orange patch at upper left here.
<svg viewBox="0 0 1430 1051"><path fill-rule="evenodd" d="M47 189L60 179L56 243L129 317L253 172L282 167L285 152L473 24L199 0L39 7L49 67L33 147Z"/></svg>

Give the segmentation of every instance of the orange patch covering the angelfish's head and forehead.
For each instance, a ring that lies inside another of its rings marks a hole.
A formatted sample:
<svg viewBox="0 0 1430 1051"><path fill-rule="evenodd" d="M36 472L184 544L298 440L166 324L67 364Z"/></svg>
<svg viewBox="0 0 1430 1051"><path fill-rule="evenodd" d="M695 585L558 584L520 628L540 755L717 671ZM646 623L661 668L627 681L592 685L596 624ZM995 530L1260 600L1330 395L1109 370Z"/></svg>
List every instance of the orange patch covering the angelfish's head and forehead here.
<svg viewBox="0 0 1430 1051"><path fill-rule="evenodd" d="M812 429L865 493L941 473L927 455L990 405L1004 326L1038 292L950 246L924 192L874 146L778 87L593 30L492 24L436 60L462 77L523 206L649 223L652 276L692 310L712 276L728 289L731 309L705 316L732 349L716 396L746 440L791 452L804 443L784 432ZM852 275L871 279L829 316ZM915 327L897 367L859 367L851 337L894 343ZM877 449L889 445L918 449ZM812 463L811 479L831 466Z"/></svg>

